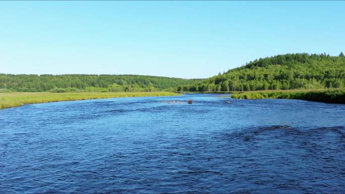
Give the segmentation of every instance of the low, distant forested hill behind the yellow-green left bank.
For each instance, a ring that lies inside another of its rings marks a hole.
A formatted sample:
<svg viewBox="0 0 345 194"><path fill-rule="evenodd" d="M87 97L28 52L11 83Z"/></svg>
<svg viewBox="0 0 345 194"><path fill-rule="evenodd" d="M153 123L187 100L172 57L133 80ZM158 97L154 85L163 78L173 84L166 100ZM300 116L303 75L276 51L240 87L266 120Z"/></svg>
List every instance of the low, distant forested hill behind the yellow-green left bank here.
<svg viewBox="0 0 345 194"><path fill-rule="evenodd" d="M120 92L176 91L179 85L202 79L138 75L12 75L0 74L0 92Z"/></svg>

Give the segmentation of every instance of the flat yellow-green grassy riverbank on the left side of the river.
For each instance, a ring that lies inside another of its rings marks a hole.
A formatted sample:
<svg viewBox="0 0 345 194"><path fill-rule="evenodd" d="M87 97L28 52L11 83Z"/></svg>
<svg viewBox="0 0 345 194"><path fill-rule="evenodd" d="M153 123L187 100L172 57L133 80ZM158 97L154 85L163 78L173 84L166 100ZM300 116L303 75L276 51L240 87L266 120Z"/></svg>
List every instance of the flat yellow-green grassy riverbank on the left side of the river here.
<svg viewBox="0 0 345 194"><path fill-rule="evenodd" d="M145 96L177 96L172 92L80 92L80 93L48 93L48 92L14 92L0 93L0 109L24 104L87 100L99 98L145 97Z"/></svg>

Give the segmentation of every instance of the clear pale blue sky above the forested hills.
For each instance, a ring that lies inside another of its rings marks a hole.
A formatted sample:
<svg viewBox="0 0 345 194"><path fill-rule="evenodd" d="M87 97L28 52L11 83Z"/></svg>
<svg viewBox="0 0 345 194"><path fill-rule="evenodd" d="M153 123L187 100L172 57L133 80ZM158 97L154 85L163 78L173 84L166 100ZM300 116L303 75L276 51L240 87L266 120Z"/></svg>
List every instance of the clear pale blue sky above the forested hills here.
<svg viewBox="0 0 345 194"><path fill-rule="evenodd" d="M0 73L207 78L345 52L345 2L0 2Z"/></svg>

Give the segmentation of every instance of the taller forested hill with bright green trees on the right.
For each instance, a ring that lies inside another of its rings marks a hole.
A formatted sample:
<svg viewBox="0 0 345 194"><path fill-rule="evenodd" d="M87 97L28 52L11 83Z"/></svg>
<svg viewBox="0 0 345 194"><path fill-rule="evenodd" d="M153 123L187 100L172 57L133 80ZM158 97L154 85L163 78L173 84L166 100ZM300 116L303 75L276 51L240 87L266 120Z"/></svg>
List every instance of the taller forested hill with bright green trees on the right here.
<svg viewBox="0 0 345 194"><path fill-rule="evenodd" d="M179 91L249 91L345 87L345 57L328 54L283 54L259 58Z"/></svg>

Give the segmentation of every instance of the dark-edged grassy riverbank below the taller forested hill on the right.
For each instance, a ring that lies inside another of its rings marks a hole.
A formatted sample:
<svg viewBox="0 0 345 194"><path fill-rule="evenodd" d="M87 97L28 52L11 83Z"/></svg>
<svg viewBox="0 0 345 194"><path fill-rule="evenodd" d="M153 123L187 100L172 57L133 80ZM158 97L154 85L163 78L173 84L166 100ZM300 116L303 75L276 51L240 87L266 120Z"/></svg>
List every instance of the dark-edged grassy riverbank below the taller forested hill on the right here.
<svg viewBox="0 0 345 194"><path fill-rule="evenodd" d="M316 102L345 104L345 89L319 89L319 90L265 90L239 92L232 94L236 99L301 99Z"/></svg>

